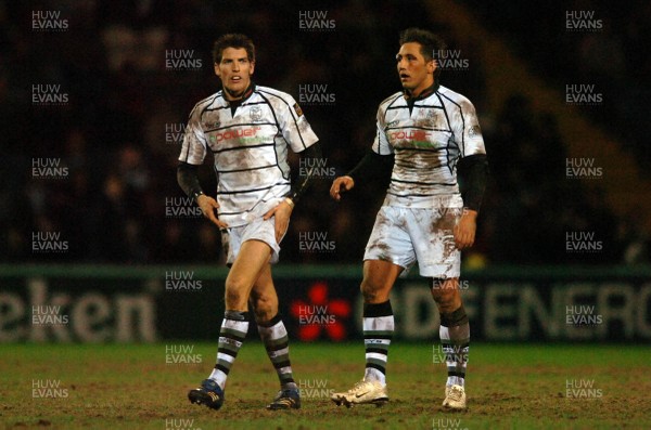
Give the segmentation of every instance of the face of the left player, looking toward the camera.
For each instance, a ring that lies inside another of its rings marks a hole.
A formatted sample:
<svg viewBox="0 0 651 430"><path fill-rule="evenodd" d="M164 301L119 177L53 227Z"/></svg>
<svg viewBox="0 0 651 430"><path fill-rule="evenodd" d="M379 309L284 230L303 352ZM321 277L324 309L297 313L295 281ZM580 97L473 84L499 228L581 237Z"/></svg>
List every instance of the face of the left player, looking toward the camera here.
<svg viewBox="0 0 651 430"><path fill-rule="evenodd" d="M255 62L250 62L244 48L227 48L221 51L221 61L215 64L215 74L221 79L229 100L240 99L251 83Z"/></svg>

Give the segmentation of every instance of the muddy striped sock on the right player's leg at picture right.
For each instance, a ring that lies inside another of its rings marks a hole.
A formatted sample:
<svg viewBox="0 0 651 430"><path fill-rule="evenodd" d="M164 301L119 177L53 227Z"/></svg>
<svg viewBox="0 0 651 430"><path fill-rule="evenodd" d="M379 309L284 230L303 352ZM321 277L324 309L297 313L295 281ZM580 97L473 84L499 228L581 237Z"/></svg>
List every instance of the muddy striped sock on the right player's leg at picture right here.
<svg viewBox="0 0 651 430"><path fill-rule="evenodd" d="M438 329L445 362L448 369L446 386L461 386L465 382L465 367L468 365L468 351L470 348L470 325L463 304L447 314L441 314L441 328Z"/></svg>

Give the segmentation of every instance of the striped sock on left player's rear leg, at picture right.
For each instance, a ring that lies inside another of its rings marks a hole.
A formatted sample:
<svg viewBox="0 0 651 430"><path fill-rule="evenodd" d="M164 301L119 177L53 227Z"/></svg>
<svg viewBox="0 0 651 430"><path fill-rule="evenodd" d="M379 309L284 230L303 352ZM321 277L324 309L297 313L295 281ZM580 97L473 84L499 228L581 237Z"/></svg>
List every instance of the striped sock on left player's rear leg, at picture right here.
<svg viewBox="0 0 651 430"><path fill-rule="evenodd" d="M267 355L276 368L278 379L280 379L281 389L296 388L296 382L292 376L292 365L290 363L290 340L288 330L280 318L280 314L265 323L258 323L260 339L265 343Z"/></svg>

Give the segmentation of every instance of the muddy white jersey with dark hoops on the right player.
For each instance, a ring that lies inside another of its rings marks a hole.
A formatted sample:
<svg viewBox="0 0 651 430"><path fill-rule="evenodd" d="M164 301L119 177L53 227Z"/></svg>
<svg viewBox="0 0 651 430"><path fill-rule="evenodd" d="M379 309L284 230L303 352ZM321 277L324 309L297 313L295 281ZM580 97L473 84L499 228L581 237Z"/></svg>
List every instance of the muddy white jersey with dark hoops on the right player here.
<svg viewBox="0 0 651 430"><path fill-rule="evenodd" d="M385 203L416 208L435 207L434 196L458 194L457 160L486 154L474 106L443 86L417 99L411 112L403 92L384 100L373 151L395 154Z"/></svg>

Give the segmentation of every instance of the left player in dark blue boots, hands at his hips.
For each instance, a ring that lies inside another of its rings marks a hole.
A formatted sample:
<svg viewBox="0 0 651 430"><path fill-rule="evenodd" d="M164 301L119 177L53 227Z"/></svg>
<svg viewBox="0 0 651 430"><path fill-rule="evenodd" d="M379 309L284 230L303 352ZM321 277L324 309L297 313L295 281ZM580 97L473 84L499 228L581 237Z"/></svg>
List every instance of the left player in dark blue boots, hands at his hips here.
<svg viewBox="0 0 651 430"><path fill-rule="evenodd" d="M230 271L217 363L188 398L214 409L221 407L229 370L248 330L251 303L280 380L280 391L267 408L299 408L271 264L278 261L292 209L310 179L307 172L292 187L288 148L302 158L320 157L318 139L290 94L252 81L255 47L248 37L221 36L215 42L213 60L222 89L192 109L177 180L204 217L221 230ZM204 194L196 174L207 153L214 157L216 198Z"/></svg>

